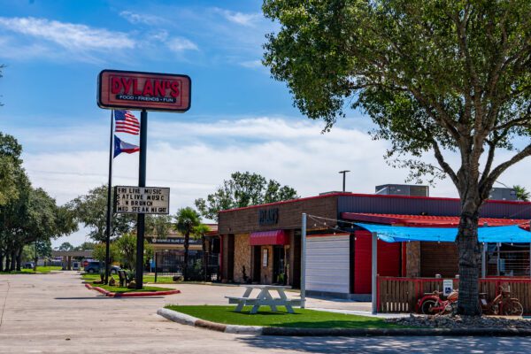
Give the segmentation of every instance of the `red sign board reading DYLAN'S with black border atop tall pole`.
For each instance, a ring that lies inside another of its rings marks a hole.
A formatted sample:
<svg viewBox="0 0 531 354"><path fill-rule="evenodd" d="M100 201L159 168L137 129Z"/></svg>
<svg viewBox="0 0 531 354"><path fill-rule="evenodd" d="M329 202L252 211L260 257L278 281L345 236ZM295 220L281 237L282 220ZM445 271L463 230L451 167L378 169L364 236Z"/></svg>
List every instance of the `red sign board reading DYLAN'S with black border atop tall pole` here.
<svg viewBox="0 0 531 354"><path fill-rule="evenodd" d="M146 111L186 112L192 81L188 75L104 70L98 77L97 105Z"/></svg>

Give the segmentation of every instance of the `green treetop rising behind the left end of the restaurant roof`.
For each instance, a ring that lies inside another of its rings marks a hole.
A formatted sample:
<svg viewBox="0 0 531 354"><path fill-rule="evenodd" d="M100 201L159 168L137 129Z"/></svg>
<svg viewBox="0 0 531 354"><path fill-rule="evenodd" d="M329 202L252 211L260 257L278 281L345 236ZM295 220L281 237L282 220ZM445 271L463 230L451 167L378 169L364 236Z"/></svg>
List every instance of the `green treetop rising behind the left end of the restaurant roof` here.
<svg viewBox="0 0 531 354"><path fill-rule="evenodd" d="M235 172L206 200L196 199L196 207L204 218L217 220L218 212L222 210L296 198L295 189L281 186L278 181L267 181L257 173Z"/></svg>

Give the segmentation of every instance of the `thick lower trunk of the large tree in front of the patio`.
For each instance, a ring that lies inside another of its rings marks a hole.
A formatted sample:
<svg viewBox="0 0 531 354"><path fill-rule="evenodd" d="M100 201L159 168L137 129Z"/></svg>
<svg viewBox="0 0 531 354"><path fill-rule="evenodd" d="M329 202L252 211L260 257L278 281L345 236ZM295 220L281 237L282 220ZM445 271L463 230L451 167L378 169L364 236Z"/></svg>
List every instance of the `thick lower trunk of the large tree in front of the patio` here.
<svg viewBox="0 0 531 354"><path fill-rule="evenodd" d="M471 208L474 209L474 208ZM480 243L478 242L479 208L461 213L458 228L459 299L458 313L481 315L479 308Z"/></svg>

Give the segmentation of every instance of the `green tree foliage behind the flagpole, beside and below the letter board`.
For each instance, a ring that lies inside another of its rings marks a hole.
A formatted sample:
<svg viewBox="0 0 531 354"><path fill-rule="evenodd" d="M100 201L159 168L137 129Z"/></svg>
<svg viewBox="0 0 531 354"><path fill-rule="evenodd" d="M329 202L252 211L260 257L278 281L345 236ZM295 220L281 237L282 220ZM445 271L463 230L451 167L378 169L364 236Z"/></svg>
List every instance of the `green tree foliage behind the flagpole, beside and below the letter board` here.
<svg viewBox="0 0 531 354"><path fill-rule="evenodd" d="M104 242L107 220L107 186L90 189L86 195L78 196L69 204L76 219L89 227L89 236L96 242ZM114 214L112 238L130 232L135 226L134 214Z"/></svg>

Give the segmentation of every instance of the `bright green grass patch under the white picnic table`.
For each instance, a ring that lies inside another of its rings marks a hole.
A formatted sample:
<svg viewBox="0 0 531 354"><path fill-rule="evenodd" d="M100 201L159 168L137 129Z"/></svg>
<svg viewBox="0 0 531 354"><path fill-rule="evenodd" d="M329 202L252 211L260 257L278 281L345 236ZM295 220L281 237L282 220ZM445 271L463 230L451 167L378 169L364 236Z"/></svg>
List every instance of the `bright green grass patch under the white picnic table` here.
<svg viewBox="0 0 531 354"><path fill-rule="evenodd" d="M282 306L279 306L281 312L270 312L267 311L269 307L262 307L264 311L258 311L254 315L250 314L251 306L244 307L242 312L235 312L235 305L167 305L165 308L186 313L198 319L210 320L227 325L303 328L404 328L392 323L386 323L383 319L344 313L297 308L294 309L295 314L289 314L285 312Z"/></svg>

